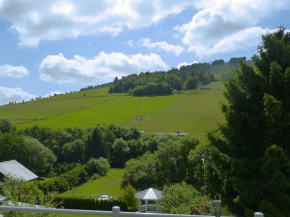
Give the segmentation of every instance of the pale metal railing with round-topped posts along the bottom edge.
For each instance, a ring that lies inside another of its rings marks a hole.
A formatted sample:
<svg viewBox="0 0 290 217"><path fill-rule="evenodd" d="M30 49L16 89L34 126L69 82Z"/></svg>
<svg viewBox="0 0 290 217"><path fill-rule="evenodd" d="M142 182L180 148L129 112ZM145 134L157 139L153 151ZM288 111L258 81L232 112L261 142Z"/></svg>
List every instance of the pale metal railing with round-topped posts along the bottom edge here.
<svg viewBox="0 0 290 217"><path fill-rule="evenodd" d="M83 215L103 215L112 217L221 217L220 211L215 216L205 215L180 215L180 214L159 214L159 213L139 213L139 212L121 212L120 207L114 206L112 211L92 211L77 209L54 209L54 208L33 208L33 207L13 207L0 206L0 211L18 211L18 212L39 212L39 213L57 213L57 214L83 214ZM1 214L0 214L1 215ZM254 217L264 217L263 213L256 212Z"/></svg>

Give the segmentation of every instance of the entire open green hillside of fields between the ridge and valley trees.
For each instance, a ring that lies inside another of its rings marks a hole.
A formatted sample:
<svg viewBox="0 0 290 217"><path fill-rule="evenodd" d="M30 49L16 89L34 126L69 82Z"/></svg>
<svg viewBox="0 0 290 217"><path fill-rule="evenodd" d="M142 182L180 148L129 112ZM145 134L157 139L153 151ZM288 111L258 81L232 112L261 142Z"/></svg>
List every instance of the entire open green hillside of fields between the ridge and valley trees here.
<svg viewBox="0 0 290 217"><path fill-rule="evenodd" d="M170 96L133 97L108 94L108 88L100 88L1 106L0 118L9 119L19 129L34 125L88 128L112 123L146 133L180 131L203 136L223 121L223 90L222 82L213 82L200 90ZM142 117L138 122L137 109Z"/></svg>

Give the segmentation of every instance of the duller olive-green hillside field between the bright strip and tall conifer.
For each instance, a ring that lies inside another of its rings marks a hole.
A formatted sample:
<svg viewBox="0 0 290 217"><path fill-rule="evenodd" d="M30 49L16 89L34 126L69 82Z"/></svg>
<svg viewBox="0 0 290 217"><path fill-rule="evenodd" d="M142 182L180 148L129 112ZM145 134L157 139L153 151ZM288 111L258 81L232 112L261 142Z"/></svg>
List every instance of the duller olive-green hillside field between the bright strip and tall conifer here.
<svg viewBox="0 0 290 217"><path fill-rule="evenodd" d="M145 133L187 132L203 137L207 131L223 122L221 102L224 102L222 82L214 82L205 89L194 90L167 107L144 116L144 120L124 123Z"/></svg>

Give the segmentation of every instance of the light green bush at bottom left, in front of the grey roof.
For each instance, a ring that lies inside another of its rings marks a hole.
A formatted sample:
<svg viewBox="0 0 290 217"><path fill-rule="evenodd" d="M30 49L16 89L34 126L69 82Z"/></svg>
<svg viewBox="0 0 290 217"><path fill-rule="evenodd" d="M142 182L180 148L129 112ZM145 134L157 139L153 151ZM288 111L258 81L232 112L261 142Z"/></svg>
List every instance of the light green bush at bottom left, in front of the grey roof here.
<svg viewBox="0 0 290 217"><path fill-rule="evenodd" d="M46 196L40 191L33 182L26 182L19 179L6 176L4 178L5 185L2 186L2 193L8 198L15 206L19 206L21 201L22 206L40 205L43 207L53 208L56 203L54 198ZM10 204L11 206L11 204ZM21 206L21 205L20 205ZM48 216L45 213L22 213L22 212L8 212L5 216L18 217L18 216Z"/></svg>

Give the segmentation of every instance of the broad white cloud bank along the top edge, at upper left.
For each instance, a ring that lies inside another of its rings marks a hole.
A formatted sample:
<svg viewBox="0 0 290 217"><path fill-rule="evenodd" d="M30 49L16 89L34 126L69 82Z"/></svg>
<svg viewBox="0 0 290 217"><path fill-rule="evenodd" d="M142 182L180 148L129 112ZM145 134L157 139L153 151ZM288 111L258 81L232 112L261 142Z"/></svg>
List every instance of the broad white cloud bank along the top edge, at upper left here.
<svg viewBox="0 0 290 217"><path fill-rule="evenodd" d="M12 22L21 46L37 47L42 40L140 29L189 5L193 5L192 0L1 0L0 18Z"/></svg>

